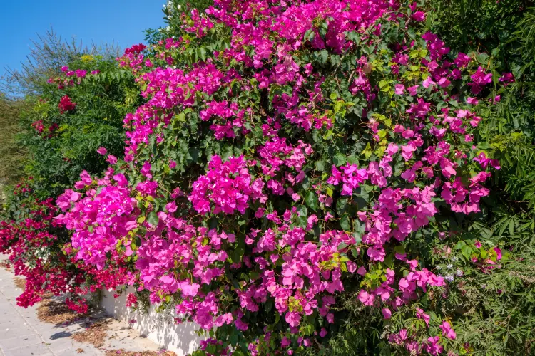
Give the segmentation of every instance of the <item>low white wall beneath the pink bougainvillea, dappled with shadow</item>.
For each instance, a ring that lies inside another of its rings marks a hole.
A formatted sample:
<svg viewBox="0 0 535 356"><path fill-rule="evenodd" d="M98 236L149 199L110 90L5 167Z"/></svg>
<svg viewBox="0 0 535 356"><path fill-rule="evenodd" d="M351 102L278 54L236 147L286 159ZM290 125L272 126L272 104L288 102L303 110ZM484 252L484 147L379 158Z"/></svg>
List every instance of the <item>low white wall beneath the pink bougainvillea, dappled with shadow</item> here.
<svg viewBox="0 0 535 356"><path fill-rule="evenodd" d="M126 293L119 298L113 298L113 292L106 290L103 293L101 307L118 320L124 320L127 323L129 320L136 320L136 323L131 324L134 329L165 350L175 352L178 356L185 356L197 350L199 342L205 339L195 333L195 330L198 330L195 323L176 325L169 320L170 318L165 320L164 315L156 313L154 305L151 305L148 314L140 311L133 312L125 305L128 293L133 293L133 289L128 288Z"/></svg>

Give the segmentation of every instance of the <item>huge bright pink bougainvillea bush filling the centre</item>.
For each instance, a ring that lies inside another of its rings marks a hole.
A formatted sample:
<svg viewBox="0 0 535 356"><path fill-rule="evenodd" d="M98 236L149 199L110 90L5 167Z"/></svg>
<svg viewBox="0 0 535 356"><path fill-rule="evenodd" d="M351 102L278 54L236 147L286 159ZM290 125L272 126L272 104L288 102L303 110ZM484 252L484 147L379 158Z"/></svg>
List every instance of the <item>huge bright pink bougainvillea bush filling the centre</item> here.
<svg viewBox="0 0 535 356"><path fill-rule="evenodd" d="M167 39L118 58L146 100L123 159L100 147L106 172L56 199L73 263L200 325L195 355L327 355L351 328L345 355L488 349L467 300L527 265L471 233L501 168L478 127L514 76L447 48L416 3L165 14Z"/></svg>

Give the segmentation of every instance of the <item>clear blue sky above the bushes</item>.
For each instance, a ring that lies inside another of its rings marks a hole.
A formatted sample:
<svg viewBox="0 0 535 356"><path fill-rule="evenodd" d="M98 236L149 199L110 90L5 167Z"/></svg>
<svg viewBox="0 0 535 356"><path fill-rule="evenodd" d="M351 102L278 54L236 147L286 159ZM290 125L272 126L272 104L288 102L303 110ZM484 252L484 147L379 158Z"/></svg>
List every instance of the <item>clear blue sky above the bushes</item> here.
<svg viewBox="0 0 535 356"><path fill-rule="evenodd" d="M118 43L126 48L143 41L143 30L163 26L165 0L7 0L0 11L0 75L20 68L31 40L47 30L61 38Z"/></svg>

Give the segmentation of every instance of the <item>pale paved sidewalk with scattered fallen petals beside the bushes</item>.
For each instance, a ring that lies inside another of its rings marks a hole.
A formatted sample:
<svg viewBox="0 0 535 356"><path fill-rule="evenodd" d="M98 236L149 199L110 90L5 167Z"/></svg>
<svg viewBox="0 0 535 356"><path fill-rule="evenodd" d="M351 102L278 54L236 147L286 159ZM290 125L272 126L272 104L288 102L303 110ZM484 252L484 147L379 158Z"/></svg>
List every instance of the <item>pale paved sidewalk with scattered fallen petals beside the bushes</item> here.
<svg viewBox="0 0 535 356"><path fill-rule="evenodd" d="M5 257L0 256L0 260ZM158 346L126 323L113 320L108 339L99 350L86 342L71 338L86 330L83 323L68 326L41 322L37 318L38 305L21 308L15 298L22 290L15 286L14 273L0 267L0 356L103 356L104 350L158 351ZM82 352L83 350L83 352Z"/></svg>

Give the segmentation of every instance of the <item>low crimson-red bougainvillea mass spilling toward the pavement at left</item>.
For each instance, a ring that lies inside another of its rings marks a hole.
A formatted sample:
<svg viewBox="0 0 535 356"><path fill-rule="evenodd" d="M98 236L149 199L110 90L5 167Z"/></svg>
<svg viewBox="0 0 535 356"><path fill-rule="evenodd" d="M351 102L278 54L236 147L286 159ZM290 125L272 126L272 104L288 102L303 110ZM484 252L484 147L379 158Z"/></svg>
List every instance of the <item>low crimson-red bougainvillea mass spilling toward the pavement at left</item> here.
<svg viewBox="0 0 535 356"><path fill-rule="evenodd" d="M0 253L8 255L15 274L26 281L17 305L27 308L44 297L68 294L68 307L86 313L88 300L80 296L126 283L124 266L118 261L98 271L72 258L70 236L55 218L59 210L54 199L39 199L33 181L29 177L16 185L0 221Z"/></svg>

